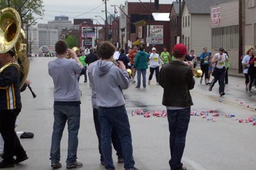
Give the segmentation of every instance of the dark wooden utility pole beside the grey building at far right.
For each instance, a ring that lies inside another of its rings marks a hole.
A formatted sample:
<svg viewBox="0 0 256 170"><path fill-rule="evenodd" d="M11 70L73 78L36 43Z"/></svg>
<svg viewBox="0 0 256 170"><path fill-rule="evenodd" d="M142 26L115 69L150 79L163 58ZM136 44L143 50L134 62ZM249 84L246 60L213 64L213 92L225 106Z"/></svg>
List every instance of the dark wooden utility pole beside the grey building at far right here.
<svg viewBox="0 0 256 170"><path fill-rule="evenodd" d="M244 54L243 53L243 18L244 18L244 2L243 0L239 0L239 55L238 55L238 72L242 73L242 64L240 57Z"/></svg>

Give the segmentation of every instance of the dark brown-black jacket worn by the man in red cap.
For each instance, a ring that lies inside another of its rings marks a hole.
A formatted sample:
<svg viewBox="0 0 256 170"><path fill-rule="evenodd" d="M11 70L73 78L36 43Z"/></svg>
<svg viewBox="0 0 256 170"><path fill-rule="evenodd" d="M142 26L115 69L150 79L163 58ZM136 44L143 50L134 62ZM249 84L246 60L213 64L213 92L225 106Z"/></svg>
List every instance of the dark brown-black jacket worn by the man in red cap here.
<svg viewBox="0 0 256 170"><path fill-rule="evenodd" d="M188 65L179 61L165 64L159 73L159 84L164 88L164 106L186 108L193 105L189 90L193 89L195 80Z"/></svg>

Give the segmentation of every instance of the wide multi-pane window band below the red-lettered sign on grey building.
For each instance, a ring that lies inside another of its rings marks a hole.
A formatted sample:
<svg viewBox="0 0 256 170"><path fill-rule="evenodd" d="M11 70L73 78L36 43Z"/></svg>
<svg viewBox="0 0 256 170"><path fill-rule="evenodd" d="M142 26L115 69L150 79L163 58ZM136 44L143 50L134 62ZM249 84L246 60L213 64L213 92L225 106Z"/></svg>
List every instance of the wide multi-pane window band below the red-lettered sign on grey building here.
<svg viewBox="0 0 256 170"><path fill-rule="evenodd" d="M212 29L212 49L224 47L226 49L238 48L239 27L228 26Z"/></svg>

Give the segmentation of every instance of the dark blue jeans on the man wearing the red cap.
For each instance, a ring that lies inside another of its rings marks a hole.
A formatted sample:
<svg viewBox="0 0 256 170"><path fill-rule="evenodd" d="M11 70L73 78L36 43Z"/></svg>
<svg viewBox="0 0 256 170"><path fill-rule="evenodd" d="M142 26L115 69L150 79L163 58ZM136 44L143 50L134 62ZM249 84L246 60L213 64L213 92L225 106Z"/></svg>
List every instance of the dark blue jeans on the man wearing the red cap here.
<svg viewBox="0 0 256 170"><path fill-rule="evenodd" d="M190 107L181 110L167 109L171 150L171 160L169 161L169 165L171 166L171 170L181 169L183 166L181 158L186 143L186 132L188 131L190 111Z"/></svg>

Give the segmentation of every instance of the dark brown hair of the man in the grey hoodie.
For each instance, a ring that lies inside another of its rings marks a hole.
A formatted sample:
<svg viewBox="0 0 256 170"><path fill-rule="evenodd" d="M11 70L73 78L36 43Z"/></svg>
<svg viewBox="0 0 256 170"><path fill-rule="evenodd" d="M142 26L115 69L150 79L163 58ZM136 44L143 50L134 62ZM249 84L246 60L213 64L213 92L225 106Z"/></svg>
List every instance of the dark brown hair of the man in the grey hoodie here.
<svg viewBox="0 0 256 170"><path fill-rule="evenodd" d="M110 59L114 55L115 52L114 45L108 41L100 42L99 45L97 45L97 55L102 58L102 60Z"/></svg>

